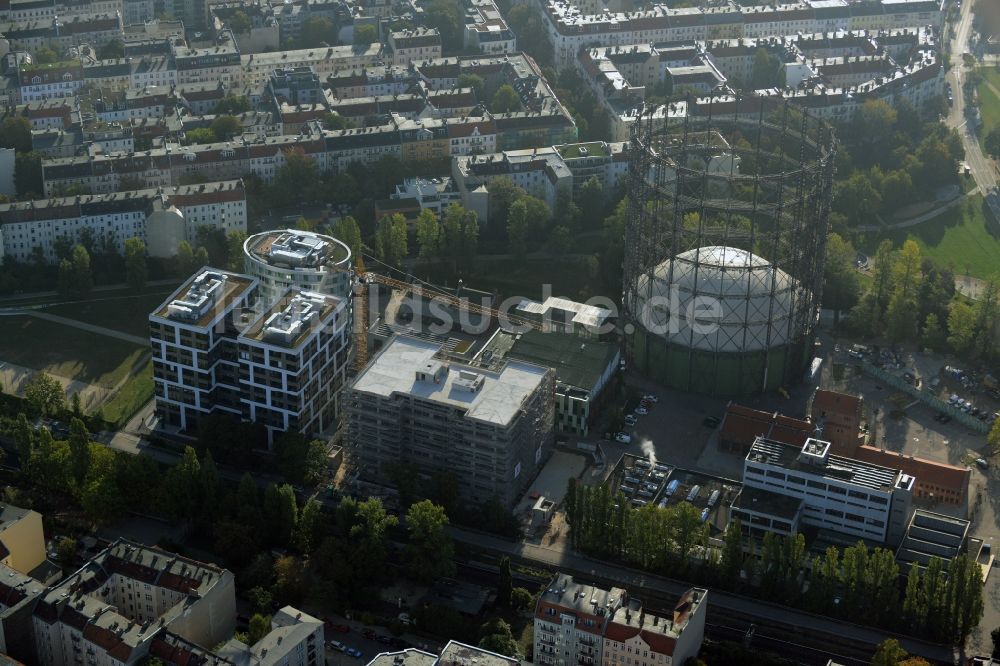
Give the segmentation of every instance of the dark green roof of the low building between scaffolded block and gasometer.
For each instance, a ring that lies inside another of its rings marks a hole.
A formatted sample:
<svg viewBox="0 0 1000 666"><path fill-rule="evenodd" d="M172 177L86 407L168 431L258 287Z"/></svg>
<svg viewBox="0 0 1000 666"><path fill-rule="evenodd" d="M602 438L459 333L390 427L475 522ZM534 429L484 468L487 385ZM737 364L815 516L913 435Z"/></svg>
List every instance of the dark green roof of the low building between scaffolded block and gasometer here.
<svg viewBox="0 0 1000 666"><path fill-rule="evenodd" d="M555 368L559 382L589 391L617 353L618 347L609 342L532 330L514 342L507 356Z"/></svg>

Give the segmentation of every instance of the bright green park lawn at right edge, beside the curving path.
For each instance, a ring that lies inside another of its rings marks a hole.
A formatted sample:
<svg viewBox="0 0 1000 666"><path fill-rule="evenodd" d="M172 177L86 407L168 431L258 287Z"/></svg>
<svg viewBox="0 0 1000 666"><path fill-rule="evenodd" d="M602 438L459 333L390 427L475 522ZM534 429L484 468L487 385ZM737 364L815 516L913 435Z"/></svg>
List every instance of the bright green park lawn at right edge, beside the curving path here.
<svg viewBox="0 0 1000 666"><path fill-rule="evenodd" d="M867 234L862 247L873 252L885 238L895 247L914 240L920 251L956 275L986 278L1000 272L1000 224L985 209L980 195L922 224Z"/></svg>

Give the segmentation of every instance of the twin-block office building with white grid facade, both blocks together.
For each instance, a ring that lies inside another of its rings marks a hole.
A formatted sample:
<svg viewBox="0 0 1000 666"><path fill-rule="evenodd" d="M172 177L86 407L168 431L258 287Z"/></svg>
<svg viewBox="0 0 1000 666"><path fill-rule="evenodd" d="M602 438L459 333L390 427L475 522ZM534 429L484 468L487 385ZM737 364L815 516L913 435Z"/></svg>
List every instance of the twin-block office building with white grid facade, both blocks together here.
<svg viewBox="0 0 1000 666"><path fill-rule="evenodd" d="M275 435L336 418L350 343L348 301L289 289L258 299L246 275L205 269L149 317L157 414L192 432L212 413Z"/></svg>

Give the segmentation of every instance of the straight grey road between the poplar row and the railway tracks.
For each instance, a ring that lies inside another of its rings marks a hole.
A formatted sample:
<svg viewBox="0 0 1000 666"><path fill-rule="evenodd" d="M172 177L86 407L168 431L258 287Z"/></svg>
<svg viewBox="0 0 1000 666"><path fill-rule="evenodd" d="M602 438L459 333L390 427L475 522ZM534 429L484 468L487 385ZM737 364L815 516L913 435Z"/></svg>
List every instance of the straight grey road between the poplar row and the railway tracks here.
<svg viewBox="0 0 1000 666"><path fill-rule="evenodd" d="M560 567L583 572L584 574L589 572L590 575L599 578L611 578L618 585L632 589L640 596L644 593L648 594L649 591L654 591L671 598L677 598L690 587L687 584L668 578L595 560L558 548L536 546L527 543L514 543L498 537L456 527L452 527L450 530L457 541L549 567ZM849 641L868 643L873 650L874 646L881 643L887 637L887 632L885 631L869 629L868 627L841 622L819 615L812 615L803 611L791 610L784 606L756 599L749 599L717 590L712 590L710 594L709 612L711 612L712 608L716 608L724 609L740 616L759 617L762 620L767 618L769 621L798 627L803 636L826 636L831 641L842 640L840 637L843 637L843 639ZM933 662L949 664L955 662L955 654L949 648L911 638L899 637L899 640L903 648L910 654L924 657ZM837 643L833 642L832 644L836 645Z"/></svg>

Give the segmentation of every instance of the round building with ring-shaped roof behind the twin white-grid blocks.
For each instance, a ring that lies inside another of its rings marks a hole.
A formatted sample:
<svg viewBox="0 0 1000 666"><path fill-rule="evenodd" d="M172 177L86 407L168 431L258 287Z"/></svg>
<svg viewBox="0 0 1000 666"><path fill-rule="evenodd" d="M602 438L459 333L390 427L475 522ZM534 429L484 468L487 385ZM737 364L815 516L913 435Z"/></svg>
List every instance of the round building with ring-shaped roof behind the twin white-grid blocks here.
<svg viewBox="0 0 1000 666"><path fill-rule="evenodd" d="M351 249L333 236L294 229L265 231L243 244L243 267L271 303L289 288L351 296Z"/></svg>

